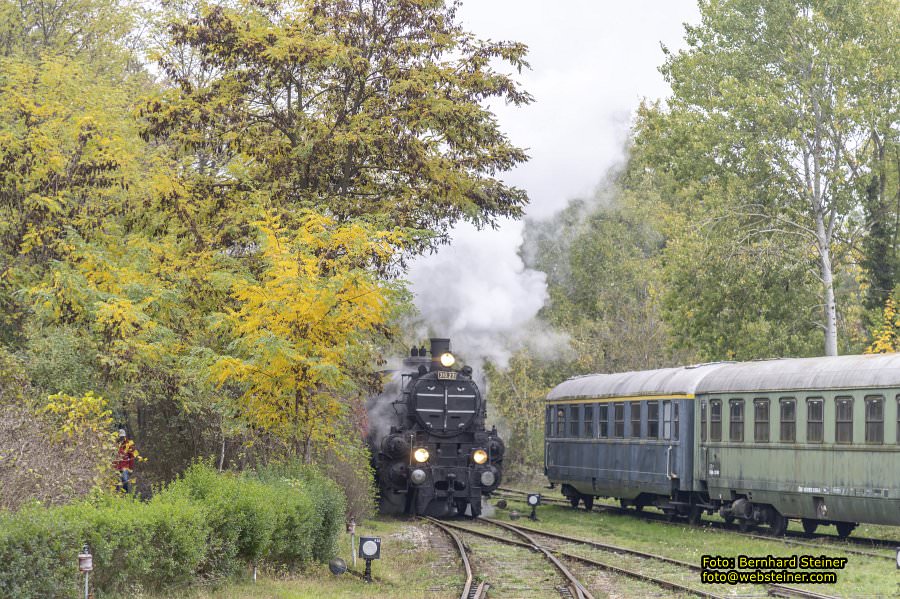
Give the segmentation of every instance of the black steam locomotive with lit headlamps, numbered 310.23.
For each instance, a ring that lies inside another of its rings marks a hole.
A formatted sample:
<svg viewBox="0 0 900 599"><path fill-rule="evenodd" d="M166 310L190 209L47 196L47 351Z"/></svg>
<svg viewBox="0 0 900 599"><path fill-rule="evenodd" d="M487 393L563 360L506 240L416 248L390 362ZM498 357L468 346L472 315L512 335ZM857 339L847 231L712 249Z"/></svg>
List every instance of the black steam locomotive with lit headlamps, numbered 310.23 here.
<svg viewBox="0 0 900 599"><path fill-rule="evenodd" d="M432 339L428 353L413 348L393 388L370 405L370 420L392 408L389 429L371 440L381 511L446 517L468 508L477 517L500 484L503 441L496 427L485 430L472 368L454 369L450 340Z"/></svg>

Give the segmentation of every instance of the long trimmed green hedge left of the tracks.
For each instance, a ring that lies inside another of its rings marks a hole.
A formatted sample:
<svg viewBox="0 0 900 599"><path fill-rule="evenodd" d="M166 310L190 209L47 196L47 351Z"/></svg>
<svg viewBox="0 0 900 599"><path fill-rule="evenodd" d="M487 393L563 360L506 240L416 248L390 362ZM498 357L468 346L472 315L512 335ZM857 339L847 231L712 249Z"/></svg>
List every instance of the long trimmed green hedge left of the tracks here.
<svg viewBox="0 0 900 599"><path fill-rule="evenodd" d="M234 475L196 464L149 502L111 496L0 512L0 597L79 597L84 543L98 598L227 576L264 560L325 561L344 507L337 485L311 468Z"/></svg>

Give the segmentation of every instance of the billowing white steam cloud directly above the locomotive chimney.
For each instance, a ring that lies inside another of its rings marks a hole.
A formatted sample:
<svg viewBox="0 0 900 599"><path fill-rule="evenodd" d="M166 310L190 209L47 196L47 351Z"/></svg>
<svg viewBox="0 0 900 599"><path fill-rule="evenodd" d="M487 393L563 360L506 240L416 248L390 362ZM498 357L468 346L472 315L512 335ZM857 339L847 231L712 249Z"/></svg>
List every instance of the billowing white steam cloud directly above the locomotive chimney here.
<svg viewBox="0 0 900 599"><path fill-rule="evenodd" d="M452 245L410 266L419 338L449 337L453 351L476 369L483 360L505 368L524 347L542 358L567 347L565 336L537 319L549 297L547 275L522 261L523 227L506 222L477 231L462 224Z"/></svg>

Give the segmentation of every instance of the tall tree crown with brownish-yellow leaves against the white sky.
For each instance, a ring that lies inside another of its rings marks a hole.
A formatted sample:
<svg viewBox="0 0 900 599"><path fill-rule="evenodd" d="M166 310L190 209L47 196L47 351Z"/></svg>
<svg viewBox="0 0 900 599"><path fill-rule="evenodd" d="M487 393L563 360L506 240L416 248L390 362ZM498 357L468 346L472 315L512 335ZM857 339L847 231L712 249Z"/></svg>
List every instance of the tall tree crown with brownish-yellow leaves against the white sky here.
<svg viewBox="0 0 900 599"><path fill-rule="evenodd" d="M531 100L491 66L525 67L525 47L474 39L455 3L186 10L170 16L158 50L174 88L141 114L148 138L200 156L181 184L185 209L223 221L207 242L227 247L246 235L240 206L222 201L234 190L265 190L280 210L414 231L413 252L446 241L459 219L484 226L522 214L525 192L496 175L526 156L484 104Z"/></svg>

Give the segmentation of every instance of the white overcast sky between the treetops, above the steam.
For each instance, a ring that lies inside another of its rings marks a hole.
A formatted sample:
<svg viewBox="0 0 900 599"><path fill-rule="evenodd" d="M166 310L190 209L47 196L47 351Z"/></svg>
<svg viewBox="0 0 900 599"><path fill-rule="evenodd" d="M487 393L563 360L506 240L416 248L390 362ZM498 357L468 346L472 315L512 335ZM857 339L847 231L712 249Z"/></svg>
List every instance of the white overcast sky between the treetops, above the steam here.
<svg viewBox="0 0 900 599"><path fill-rule="evenodd" d="M464 0L466 29L529 47L531 71L519 79L536 101L495 112L529 148L507 180L528 190L530 216L589 193L620 158L641 98L668 93L660 42L682 47L682 23L698 18L696 0Z"/></svg>

